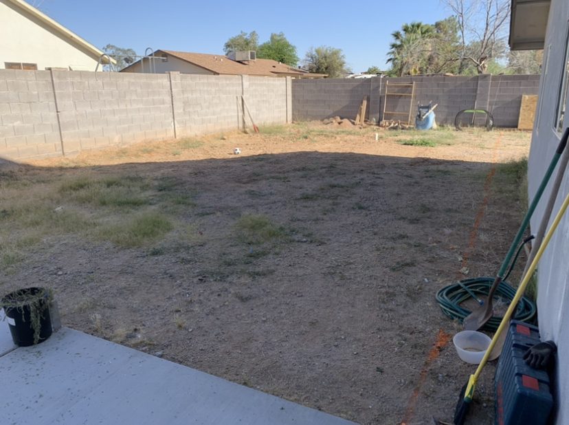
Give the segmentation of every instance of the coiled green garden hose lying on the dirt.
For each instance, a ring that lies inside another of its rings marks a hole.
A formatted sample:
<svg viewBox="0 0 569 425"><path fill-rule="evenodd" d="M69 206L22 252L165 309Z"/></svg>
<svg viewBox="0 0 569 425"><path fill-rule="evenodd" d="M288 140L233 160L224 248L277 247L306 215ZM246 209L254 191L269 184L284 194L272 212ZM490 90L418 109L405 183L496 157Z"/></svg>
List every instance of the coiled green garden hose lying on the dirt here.
<svg viewBox="0 0 569 425"><path fill-rule="evenodd" d="M494 279L493 277L478 277L465 279L460 281L460 283L477 296L487 296L492 283L494 283ZM510 303L515 296L515 289L511 287L509 283L502 281L500 285L498 285L498 288L496 288L495 296L503 298L504 301ZM443 313L453 320L460 320L460 322L471 313L468 309L460 307L460 304L467 301L468 298L471 298L471 296L460 287L458 283L445 286L436 293L436 301L438 305L440 305L440 309L443 310ZM515 309L513 318L529 322L534 316L535 304L529 298L525 296L522 297L520 303L517 305L517 309ZM501 321L502 316L492 316L482 329L484 331L495 331L498 329L498 326L500 326Z"/></svg>

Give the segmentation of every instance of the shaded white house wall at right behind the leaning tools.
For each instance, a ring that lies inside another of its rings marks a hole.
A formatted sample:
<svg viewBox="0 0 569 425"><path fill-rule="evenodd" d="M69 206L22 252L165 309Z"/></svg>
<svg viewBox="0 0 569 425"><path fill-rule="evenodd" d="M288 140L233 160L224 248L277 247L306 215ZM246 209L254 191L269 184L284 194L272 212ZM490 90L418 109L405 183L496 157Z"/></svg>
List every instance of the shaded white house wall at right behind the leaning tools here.
<svg viewBox="0 0 569 425"><path fill-rule="evenodd" d="M548 30L544 49L544 66L540 81L539 107L536 114L535 127L528 164L529 195L535 194L542 180L551 157L553 157L560 135L555 131L557 98L559 85L564 73L564 54L566 34L569 30L569 2L553 0L551 2ZM569 106L569 105L568 105ZM566 109L569 111L569 108ZM564 127L569 125L569 116ZM569 149L569 146L568 146ZM557 171L555 171L557 173ZM555 176L555 175L554 175ZM554 177L552 177L553 181ZM550 188L546 190L539 208L537 208L531 228L537 231L542 219L544 206L549 197ZM569 193L569 171L566 171L561 185L554 214L559 210L561 202ZM569 214L569 213L568 213ZM538 266L539 329L542 340L555 340L559 349L557 364L557 420L556 424L569 424L569 217L566 215L559 224L550 246L546 250Z"/></svg>

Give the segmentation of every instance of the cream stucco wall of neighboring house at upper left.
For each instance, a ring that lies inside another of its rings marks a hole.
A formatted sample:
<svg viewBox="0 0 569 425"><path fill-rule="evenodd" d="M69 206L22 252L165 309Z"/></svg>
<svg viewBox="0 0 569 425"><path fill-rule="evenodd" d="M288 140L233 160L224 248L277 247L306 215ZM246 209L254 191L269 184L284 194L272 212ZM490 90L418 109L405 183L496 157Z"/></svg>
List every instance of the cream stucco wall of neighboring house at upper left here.
<svg viewBox="0 0 569 425"><path fill-rule="evenodd" d="M5 62L35 63L38 69L63 67L94 71L97 59L71 44L31 15L0 0L0 69Z"/></svg>

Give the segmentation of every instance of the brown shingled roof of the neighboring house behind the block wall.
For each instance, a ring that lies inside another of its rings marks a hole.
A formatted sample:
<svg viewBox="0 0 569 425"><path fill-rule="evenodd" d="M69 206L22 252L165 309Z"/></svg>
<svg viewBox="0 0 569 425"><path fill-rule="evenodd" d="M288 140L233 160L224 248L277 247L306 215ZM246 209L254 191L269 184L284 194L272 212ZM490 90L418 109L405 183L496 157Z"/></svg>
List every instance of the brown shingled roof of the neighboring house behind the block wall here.
<svg viewBox="0 0 569 425"><path fill-rule="evenodd" d="M238 62L219 54L175 52L173 50L157 50L153 55L159 56L163 53L219 75L293 76L298 78L322 78L326 76L325 74L310 74L302 69L296 69L272 59ZM135 63L129 67L132 67Z"/></svg>

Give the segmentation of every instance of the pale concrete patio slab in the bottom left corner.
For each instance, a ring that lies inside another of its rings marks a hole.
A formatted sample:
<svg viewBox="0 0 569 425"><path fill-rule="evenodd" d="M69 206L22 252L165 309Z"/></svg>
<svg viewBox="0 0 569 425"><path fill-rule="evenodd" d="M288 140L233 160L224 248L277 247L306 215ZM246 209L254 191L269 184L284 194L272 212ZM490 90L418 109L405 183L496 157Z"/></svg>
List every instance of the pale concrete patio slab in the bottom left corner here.
<svg viewBox="0 0 569 425"><path fill-rule="evenodd" d="M3 424L353 424L67 328L0 371Z"/></svg>

